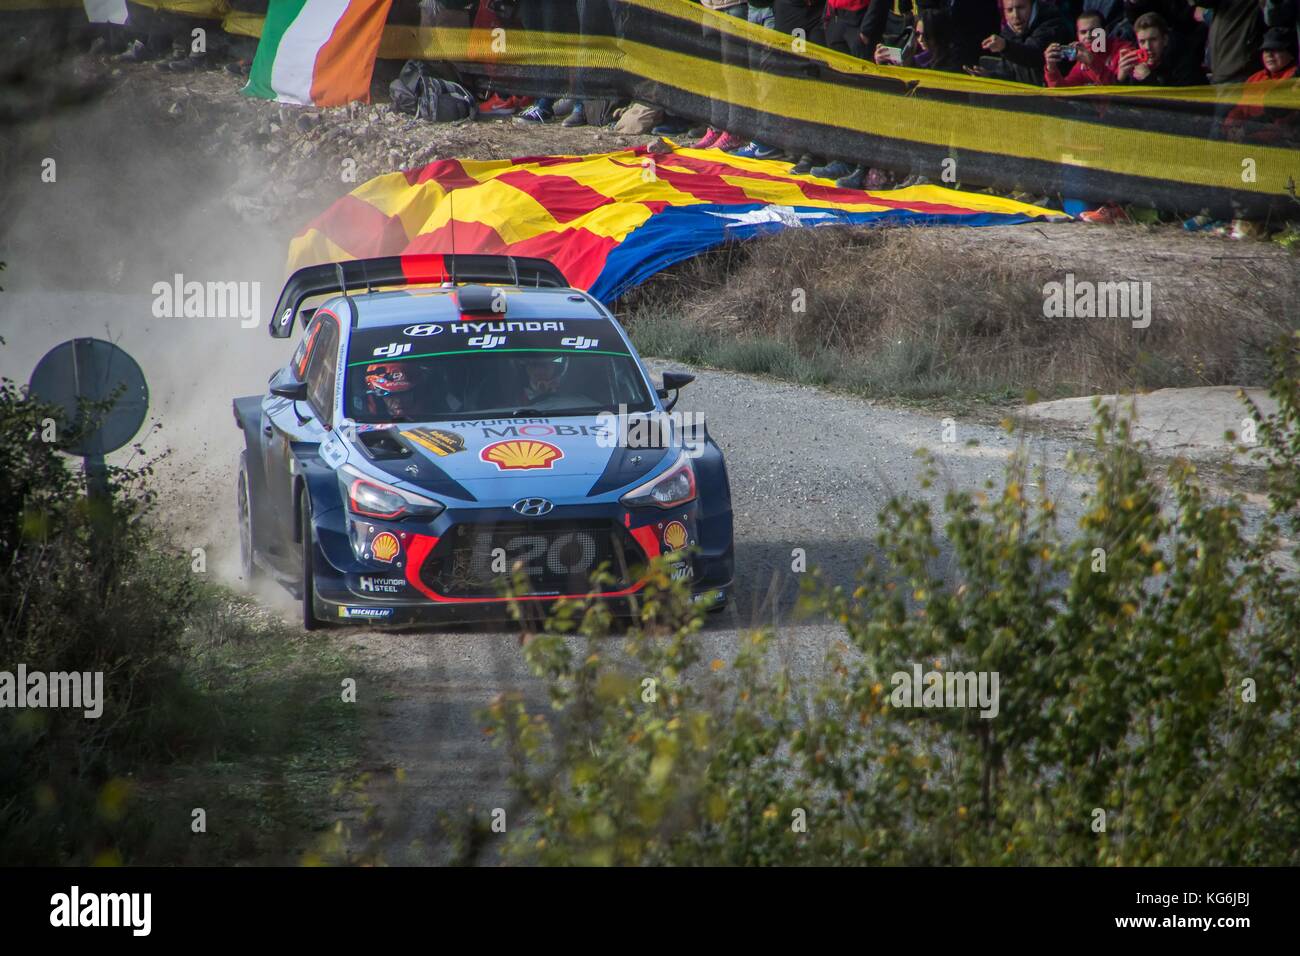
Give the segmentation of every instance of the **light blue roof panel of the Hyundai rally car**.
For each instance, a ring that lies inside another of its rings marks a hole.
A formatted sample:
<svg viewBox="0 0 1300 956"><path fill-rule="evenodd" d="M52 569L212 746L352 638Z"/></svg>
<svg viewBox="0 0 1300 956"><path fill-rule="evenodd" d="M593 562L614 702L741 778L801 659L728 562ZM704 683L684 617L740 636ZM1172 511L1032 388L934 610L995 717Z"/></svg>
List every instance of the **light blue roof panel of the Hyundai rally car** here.
<svg viewBox="0 0 1300 956"><path fill-rule="evenodd" d="M504 315L467 316L472 321L536 320L536 319L599 319L610 321L610 315L586 293L578 289L523 289L519 286L493 286L506 297ZM455 287L400 289L393 291L354 294L358 328L378 329L416 321L456 321L460 307L452 295Z"/></svg>

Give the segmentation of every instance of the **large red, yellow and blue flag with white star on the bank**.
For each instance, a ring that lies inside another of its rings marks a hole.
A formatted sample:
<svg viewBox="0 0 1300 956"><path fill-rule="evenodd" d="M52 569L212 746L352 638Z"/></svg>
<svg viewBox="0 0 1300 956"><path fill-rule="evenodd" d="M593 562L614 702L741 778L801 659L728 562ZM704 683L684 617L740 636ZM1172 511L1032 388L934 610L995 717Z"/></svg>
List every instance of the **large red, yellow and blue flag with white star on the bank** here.
<svg viewBox="0 0 1300 956"><path fill-rule="evenodd" d="M662 148L662 147L659 147ZM289 251L289 269L413 252L540 256L603 302L729 239L831 225L1008 225L1061 213L941 186L863 191L789 163L636 147L437 160L370 179Z"/></svg>

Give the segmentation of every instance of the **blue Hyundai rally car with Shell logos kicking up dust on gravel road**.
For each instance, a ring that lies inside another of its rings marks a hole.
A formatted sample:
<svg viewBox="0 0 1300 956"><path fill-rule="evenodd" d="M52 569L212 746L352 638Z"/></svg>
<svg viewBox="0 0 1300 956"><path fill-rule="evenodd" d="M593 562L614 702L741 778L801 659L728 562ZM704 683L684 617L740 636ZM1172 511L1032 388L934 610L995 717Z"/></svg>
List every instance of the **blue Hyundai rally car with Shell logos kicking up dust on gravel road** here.
<svg viewBox="0 0 1300 956"><path fill-rule="evenodd" d="M270 333L298 325L268 393L234 414L243 572L300 597L304 627L588 594L629 613L660 554L697 601L725 604L727 467L672 411L693 377L655 388L608 310L551 263L315 265L285 285ZM520 575L526 592L507 594Z"/></svg>

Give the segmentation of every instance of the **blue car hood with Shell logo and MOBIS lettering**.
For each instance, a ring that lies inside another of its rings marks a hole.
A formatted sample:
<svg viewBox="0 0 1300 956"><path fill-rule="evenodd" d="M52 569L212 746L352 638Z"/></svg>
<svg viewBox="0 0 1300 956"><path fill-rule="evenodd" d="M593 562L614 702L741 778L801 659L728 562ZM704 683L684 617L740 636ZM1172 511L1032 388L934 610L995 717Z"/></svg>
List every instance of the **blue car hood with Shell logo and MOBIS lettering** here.
<svg viewBox="0 0 1300 956"><path fill-rule="evenodd" d="M620 432L628 434L638 419L659 423L659 447L620 441ZM663 445L673 441L671 416L633 416L623 428L619 421L573 416L359 425L356 441L370 464L436 497L484 505L545 497L563 503L611 496L664 463L671 447Z"/></svg>

